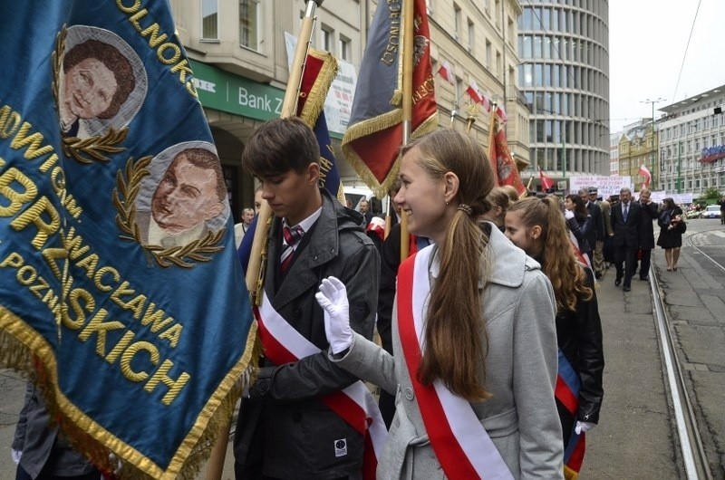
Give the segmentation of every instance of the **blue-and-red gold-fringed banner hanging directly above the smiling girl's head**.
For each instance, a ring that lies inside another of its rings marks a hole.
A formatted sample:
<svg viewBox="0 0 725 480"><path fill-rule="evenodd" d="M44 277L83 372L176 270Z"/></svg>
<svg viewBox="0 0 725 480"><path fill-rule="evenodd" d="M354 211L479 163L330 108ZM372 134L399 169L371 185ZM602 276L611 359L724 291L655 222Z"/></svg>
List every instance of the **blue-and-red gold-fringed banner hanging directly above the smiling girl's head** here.
<svg viewBox="0 0 725 480"><path fill-rule="evenodd" d="M411 139L438 126L430 33L425 0L415 2L413 43L413 106ZM375 10L362 56L350 124L343 153L360 178L382 197L398 175L402 144L402 46L406 39L391 37L401 31L402 2L381 2Z"/></svg>

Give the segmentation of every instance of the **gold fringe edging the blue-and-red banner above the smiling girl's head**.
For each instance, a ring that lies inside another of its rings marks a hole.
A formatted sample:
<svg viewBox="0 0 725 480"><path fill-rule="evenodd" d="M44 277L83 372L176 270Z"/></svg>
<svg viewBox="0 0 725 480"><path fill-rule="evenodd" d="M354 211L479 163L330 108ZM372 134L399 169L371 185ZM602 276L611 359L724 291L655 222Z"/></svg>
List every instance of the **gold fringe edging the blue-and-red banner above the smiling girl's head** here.
<svg viewBox="0 0 725 480"><path fill-rule="evenodd" d="M395 179L398 177L398 170L400 169L401 162L396 160L388 176L382 181L382 183L380 183L372 174L371 169L349 144L356 139L362 139L363 137L367 137L373 133L378 133L381 130L396 127L400 125L401 122L402 110L392 110L372 119L362 120L345 131L345 135L343 137L343 153L345 158L350 161L362 181L370 187L376 197L384 197L387 195L388 190L392 187L392 184L395 183ZM438 128L438 111L420 123L420 126L411 133L411 139L430 133L431 131L436 130L436 128Z"/></svg>

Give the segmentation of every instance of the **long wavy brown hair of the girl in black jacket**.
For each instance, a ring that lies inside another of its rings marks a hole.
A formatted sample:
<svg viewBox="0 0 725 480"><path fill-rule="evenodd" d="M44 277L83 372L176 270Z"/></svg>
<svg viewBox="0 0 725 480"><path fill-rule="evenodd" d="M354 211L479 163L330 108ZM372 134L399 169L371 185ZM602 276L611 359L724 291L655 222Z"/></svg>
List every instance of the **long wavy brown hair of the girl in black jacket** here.
<svg viewBox="0 0 725 480"><path fill-rule="evenodd" d="M554 288L556 312L575 311L580 297L590 300L593 292L585 284L584 267L576 262L559 200L555 197L527 197L510 206L508 211L521 212L521 220L527 228L541 227L540 238L544 248L539 261Z"/></svg>

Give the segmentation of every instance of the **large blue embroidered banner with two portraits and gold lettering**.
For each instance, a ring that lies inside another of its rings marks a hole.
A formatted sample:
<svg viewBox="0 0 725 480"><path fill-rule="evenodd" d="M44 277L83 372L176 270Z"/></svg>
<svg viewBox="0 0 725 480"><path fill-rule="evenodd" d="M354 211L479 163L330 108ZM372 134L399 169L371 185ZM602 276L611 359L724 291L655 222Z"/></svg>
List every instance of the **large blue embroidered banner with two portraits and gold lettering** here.
<svg viewBox="0 0 725 480"><path fill-rule="evenodd" d="M0 4L0 362L124 477L189 475L250 356L227 188L174 33L166 0Z"/></svg>

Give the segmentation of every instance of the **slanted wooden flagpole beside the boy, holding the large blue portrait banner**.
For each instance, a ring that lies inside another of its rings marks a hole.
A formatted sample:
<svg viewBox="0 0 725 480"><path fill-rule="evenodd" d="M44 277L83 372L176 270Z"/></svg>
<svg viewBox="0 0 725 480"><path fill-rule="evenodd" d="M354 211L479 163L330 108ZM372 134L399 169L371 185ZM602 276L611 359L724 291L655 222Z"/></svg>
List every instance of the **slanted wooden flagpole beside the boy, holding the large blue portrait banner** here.
<svg viewBox="0 0 725 480"><path fill-rule="evenodd" d="M304 62L307 58L307 51L310 47L314 30L315 12L317 7L323 4L323 0L308 0L300 27L300 34L295 48L295 57L292 68L289 72L289 80L285 91L285 101L282 104L281 118L294 117L297 113L297 100L299 99L300 84L304 72ZM252 242L252 253L249 256L247 267L247 290L249 291L250 302L259 305L262 301L262 288L264 287L265 262L267 236L271 226L272 209L266 200L262 200L259 214L256 219L255 238ZM231 428L231 418L226 425L219 429L221 435L211 451L207 468L207 480L220 480L224 471L224 458L227 456L228 432Z"/></svg>

